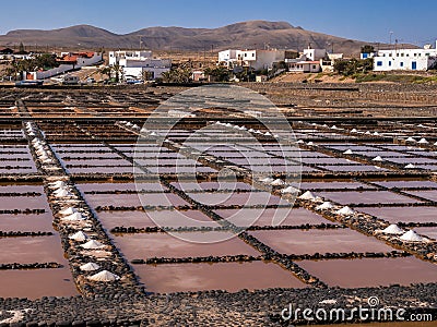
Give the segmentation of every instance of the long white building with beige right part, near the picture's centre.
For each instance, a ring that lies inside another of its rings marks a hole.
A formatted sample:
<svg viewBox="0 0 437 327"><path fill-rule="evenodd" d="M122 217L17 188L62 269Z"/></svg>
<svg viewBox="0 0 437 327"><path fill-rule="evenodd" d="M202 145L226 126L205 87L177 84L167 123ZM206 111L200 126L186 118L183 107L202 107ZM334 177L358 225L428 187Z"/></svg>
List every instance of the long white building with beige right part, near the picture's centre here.
<svg viewBox="0 0 437 327"><path fill-rule="evenodd" d="M218 52L218 64L249 66L255 70L270 70L274 62L284 61L284 50L224 50Z"/></svg>

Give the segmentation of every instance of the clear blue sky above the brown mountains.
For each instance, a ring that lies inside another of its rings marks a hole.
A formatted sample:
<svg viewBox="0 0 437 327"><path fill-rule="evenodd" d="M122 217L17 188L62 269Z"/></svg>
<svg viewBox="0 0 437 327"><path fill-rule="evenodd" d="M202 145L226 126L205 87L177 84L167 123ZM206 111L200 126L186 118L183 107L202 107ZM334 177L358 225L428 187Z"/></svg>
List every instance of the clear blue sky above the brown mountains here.
<svg viewBox="0 0 437 327"><path fill-rule="evenodd" d="M218 27L248 20L286 21L305 29L367 41L423 45L437 38L432 0L20 0L1 1L0 34L90 24L125 34L149 26Z"/></svg>

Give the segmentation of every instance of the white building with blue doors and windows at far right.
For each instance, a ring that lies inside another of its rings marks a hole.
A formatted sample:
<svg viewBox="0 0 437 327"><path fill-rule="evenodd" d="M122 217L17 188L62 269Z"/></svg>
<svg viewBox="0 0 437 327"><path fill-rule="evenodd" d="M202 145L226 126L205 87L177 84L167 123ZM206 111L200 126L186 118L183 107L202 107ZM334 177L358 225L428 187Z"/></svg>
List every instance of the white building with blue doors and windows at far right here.
<svg viewBox="0 0 437 327"><path fill-rule="evenodd" d="M437 47L437 41L436 41ZM437 64L437 49L430 45L423 49L379 50L374 57L374 71L426 71Z"/></svg>

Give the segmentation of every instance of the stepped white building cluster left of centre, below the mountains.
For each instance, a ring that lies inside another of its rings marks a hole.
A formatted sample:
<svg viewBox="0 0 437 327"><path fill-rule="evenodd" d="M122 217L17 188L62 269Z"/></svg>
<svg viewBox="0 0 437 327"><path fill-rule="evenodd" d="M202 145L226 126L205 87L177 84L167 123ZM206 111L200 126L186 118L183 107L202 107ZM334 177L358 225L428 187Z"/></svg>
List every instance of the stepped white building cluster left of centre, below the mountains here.
<svg viewBox="0 0 437 327"><path fill-rule="evenodd" d="M153 58L152 51L109 51L109 65L114 64L121 66L125 80L142 80L143 72L149 72L153 80L170 70L172 59Z"/></svg>

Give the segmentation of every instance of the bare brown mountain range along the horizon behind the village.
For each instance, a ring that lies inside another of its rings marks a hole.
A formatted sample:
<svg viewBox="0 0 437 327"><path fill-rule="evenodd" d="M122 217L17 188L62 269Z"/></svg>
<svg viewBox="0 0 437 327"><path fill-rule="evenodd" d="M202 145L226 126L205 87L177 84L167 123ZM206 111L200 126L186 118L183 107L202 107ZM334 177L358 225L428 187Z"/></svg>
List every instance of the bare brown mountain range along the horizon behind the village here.
<svg viewBox="0 0 437 327"><path fill-rule="evenodd" d="M138 48L140 43L150 49L180 49L191 51L223 50L228 48L312 48L334 49L346 55L359 52L368 44L332 35L306 31L286 22L249 21L218 28L147 27L129 34L115 34L91 25L66 28L15 29L0 35L0 45L11 47L23 43L28 46L107 49Z"/></svg>

